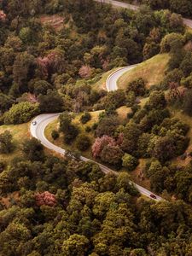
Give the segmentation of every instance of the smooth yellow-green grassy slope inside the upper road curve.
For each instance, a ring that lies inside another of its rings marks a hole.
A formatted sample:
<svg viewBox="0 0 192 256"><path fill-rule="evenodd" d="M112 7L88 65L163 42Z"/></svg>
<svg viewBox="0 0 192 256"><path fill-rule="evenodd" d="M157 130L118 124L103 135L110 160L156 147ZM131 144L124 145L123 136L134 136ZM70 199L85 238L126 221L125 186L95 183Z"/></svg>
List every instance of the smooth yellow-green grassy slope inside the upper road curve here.
<svg viewBox="0 0 192 256"><path fill-rule="evenodd" d="M168 54L155 55L153 58L143 61L137 67L126 72L119 78L118 87L125 89L131 80L137 78L143 78L146 81L148 88L153 84L160 83L160 81L164 78L168 61Z"/></svg>

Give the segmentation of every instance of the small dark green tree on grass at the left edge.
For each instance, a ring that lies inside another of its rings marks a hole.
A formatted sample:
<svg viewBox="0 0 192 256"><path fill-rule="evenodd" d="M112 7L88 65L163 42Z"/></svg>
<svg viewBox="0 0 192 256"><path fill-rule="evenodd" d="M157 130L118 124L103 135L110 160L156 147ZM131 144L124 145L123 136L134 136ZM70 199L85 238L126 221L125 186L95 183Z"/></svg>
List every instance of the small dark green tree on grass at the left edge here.
<svg viewBox="0 0 192 256"><path fill-rule="evenodd" d="M4 131L0 134L0 153L8 154L13 150L13 137L10 131Z"/></svg>

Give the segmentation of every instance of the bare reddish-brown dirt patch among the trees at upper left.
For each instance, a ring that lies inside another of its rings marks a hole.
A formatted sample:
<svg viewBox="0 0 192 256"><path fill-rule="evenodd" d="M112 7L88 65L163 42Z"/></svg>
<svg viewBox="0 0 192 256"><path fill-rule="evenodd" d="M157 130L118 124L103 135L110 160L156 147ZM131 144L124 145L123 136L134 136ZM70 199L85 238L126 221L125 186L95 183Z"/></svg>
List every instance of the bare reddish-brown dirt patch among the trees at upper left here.
<svg viewBox="0 0 192 256"><path fill-rule="evenodd" d="M55 30L60 30L63 27L64 18L59 15L43 15L40 21L44 25L53 26Z"/></svg>

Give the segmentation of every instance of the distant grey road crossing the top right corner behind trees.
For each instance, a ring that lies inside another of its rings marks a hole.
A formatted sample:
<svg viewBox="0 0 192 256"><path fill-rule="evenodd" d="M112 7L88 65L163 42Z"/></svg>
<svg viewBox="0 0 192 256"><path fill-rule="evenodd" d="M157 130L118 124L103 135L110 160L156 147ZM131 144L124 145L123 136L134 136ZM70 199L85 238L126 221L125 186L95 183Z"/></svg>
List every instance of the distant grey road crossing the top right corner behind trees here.
<svg viewBox="0 0 192 256"><path fill-rule="evenodd" d="M132 9L134 11L137 11L137 9L139 9L139 6L133 5L133 4L130 4L130 3L122 3L122 2L119 2L119 1L113 1L113 0L95 0L95 1L99 2L99 3L109 3L109 4L112 4L114 7ZM192 20L183 18L183 23L186 26L189 26L190 28L192 28Z"/></svg>

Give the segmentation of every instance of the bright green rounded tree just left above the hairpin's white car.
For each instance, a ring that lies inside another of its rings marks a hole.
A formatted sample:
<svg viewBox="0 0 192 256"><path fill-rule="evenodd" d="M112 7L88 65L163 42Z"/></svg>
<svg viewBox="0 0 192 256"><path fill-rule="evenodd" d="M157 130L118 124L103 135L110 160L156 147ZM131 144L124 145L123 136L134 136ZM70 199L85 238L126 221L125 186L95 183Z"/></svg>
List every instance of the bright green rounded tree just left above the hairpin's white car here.
<svg viewBox="0 0 192 256"><path fill-rule="evenodd" d="M38 104L20 102L13 105L8 112L4 113L4 123L14 125L26 123L38 113Z"/></svg>

